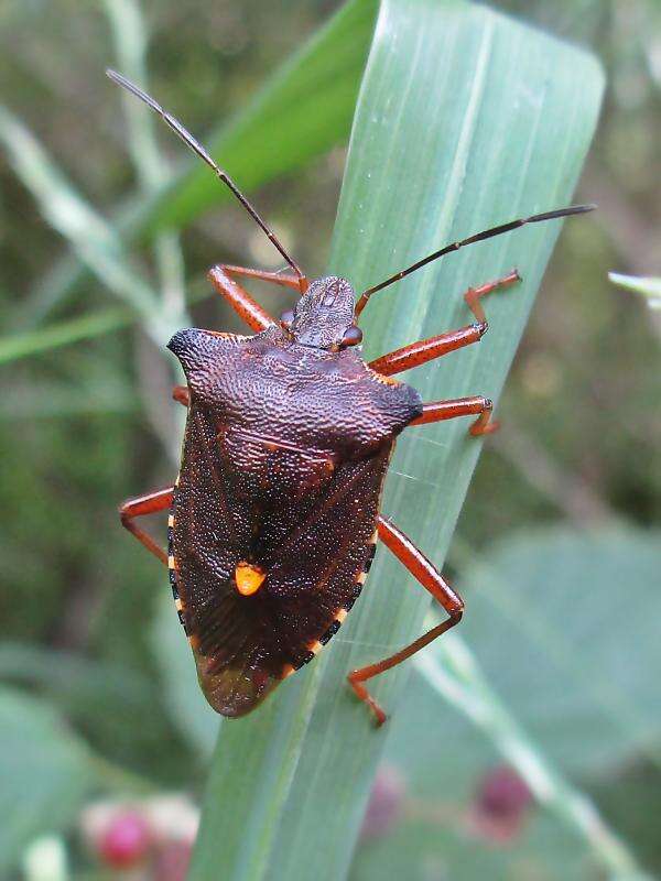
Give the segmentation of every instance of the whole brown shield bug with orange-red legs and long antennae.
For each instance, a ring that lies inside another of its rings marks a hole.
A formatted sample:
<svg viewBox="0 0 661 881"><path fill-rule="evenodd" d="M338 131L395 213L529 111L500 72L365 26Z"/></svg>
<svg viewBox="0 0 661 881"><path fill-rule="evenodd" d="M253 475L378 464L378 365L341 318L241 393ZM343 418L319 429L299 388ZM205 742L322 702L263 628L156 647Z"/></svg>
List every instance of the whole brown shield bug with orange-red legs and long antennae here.
<svg viewBox="0 0 661 881"><path fill-rule="evenodd" d="M186 387L174 398L188 415L178 478L126 501L121 522L170 569L180 620L202 688L225 716L252 710L312 661L338 631L362 590L381 541L443 606L447 618L390 657L348 675L379 724L386 714L365 683L410 657L462 618L460 597L398 526L379 512L397 436L404 428L474 416L473 436L492 432L481 395L423 403L392 377L477 342L487 329L481 297L519 280L516 270L468 290L474 323L413 342L367 363L357 320L369 298L434 260L474 242L594 206L512 220L448 244L364 291L346 279L308 284L282 243L206 150L151 97L111 79L159 113L230 188L290 271L220 264L212 284L253 335L181 330L169 348ZM272 318L238 279L292 289L297 300ZM137 518L170 510L167 552Z"/></svg>

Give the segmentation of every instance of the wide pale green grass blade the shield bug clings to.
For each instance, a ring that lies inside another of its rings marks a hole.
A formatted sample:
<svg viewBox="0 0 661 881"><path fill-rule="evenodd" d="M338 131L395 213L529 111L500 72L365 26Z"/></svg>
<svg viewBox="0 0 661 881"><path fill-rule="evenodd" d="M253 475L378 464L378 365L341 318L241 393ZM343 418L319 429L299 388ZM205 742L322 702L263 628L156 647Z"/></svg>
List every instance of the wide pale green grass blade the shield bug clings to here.
<svg viewBox="0 0 661 881"><path fill-rule="evenodd" d="M386 0L332 271L360 290L445 242L567 204L602 90L592 57L487 9ZM525 228L377 294L365 313L367 355L468 323L460 292L518 265L524 282L491 297L485 341L411 377L425 400L497 398L559 231L557 222ZM387 485L386 513L438 565L479 453L466 427L405 433ZM253 716L223 725L192 881L345 877L388 736L388 726L372 728L345 676L418 635L427 607L380 548L360 601L319 659ZM404 665L373 684L391 711L409 672Z"/></svg>

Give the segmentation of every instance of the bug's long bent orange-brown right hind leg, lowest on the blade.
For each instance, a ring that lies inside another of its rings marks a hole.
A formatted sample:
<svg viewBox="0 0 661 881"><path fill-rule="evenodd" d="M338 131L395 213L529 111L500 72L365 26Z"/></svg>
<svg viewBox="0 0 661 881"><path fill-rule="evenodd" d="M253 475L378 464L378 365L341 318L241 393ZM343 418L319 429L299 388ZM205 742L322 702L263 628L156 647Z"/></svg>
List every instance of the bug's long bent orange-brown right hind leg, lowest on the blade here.
<svg viewBox="0 0 661 881"><path fill-rule="evenodd" d="M424 556L422 551L419 551L411 540L393 523L379 515L377 529L379 539L381 539L388 550L404 564L425 590L429 590L434 599L438 600L449 616L445 621L432 628L401 651L390 655L390 657L386 657L383 661L379 661L376 664L369 664L369 666L355 670L347 676L354 692L358 695L360 700L364 700L373 711L377 724L383 725L386 721L386 713L377 704L362 683L371 679L372 676L378 676L379 673L383 673L401 664L402 661L411 657L412 654L415 654L415 652L429 645L430 642L457 624L462 620L464 602L447 581L445 581L436 567Z"/></svg>

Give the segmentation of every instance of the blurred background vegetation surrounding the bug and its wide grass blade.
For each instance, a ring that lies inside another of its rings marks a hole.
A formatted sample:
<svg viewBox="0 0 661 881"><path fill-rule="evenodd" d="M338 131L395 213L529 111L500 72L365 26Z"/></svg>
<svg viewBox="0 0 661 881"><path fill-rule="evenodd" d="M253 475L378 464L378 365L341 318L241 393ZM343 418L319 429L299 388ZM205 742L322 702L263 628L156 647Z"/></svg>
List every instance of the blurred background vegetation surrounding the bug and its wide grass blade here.
<svg viewBox="0 0 661 881"><path fill-rule="evenodd" d="M607 69L579 191L600 210L564 230L499 403L505 428L480 459L451 552L470 603L462 635L480 670L452 640L418 665L356 879L599 878L605 853L620 877L661 866L659 323L607 280L608 270L659 274L659 12L641 0L501 6L592 46ZM156 344L187 322L184 278L199 296L220 257L272 261L238 209L209 204L206 175L159 195L192 165L164 133L155 148L144 117L124 116L102 68L145 81L149 34L150 89L204 134L250 112L267 77L338 7L162 0L144 4L143 21L129 2L32 0L0 12L12 113L0 117L7 877L26 859L33 878L40 859L66 858L75 877L108 872L107 851L89 852L106 828L90 801L111 796L161 805L145 871L181 877L194 808L162 796L198 801L216 722L182 685L187 648L171 639L161 575L115 505L172 477L180 423L163 404L172 376ZM366 3L343 44L357 58L370 15ZM330 68L317 65L327 83ZM299 95L294 120L274 105L278 151L250 116L224 135L237 176L262 184L260 208L312 274L328 255L359 67L324 106L314 89ZM153 244L124 248L101 215ZM164 216L180 236L154 233L150 218ZM194 322L237 326L209 300Z"/></svg>

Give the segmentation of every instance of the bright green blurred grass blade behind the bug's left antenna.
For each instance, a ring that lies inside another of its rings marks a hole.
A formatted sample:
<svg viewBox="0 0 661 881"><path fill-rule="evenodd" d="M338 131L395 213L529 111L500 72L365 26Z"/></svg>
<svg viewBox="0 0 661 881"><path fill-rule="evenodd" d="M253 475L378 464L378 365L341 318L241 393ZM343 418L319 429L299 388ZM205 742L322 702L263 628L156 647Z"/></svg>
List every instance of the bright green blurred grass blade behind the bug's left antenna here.
<svg viewBox="0 0 661 881"><path fill-rule="evenodd" d="M346 141L376 11L376 0L347 2L237 118L203 138L246 193ZM231 198L199 160L186 157L181 167L156 197L132 199L119 213L124 240L151 237L163 227L182 228ZM77 259L64 258L22 311L22 323L43 320L84 276Z"/></svg>

